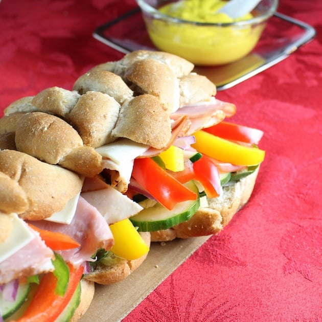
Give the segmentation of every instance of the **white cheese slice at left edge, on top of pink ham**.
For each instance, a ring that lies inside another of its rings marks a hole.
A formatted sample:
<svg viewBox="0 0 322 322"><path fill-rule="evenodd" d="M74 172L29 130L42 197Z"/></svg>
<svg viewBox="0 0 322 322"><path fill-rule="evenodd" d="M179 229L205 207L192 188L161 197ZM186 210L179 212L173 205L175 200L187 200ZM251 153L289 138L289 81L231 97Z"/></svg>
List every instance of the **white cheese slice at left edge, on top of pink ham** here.
<svg viewBox="0 0 322 322"><path fill-rule="evenodd" d="M0 263L35 238L27 223L19 218L17 214L10 214L8 216L11 216L13 219L12 230L10 236L0 243Z"/></svg>

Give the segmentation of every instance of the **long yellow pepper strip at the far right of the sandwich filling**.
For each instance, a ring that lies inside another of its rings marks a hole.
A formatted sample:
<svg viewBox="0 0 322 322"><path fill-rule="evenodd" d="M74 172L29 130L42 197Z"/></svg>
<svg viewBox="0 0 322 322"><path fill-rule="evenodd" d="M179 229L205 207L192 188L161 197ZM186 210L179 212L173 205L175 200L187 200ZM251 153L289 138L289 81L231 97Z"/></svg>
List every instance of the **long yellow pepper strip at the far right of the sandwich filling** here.
<svg viewBox="0 0 322 322"><path fill-rule="evenodd" d="M221 139L203 130L194 133L196 143L192 144L200 153L234 165L255 166L265 157L265 151Z"/></svg>

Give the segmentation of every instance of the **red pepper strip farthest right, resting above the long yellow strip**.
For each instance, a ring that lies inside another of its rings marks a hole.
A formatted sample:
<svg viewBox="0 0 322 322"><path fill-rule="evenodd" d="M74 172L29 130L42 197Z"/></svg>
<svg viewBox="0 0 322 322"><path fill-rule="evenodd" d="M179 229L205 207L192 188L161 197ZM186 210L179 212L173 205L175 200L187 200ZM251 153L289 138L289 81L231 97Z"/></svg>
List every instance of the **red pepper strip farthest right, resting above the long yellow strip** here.
<svg viewBox="0 0 322 322"><path fill-rule="evenodd" d="M220 122L203 130L222 139L250 144L258 144L264 134L261 130L229 122Z"/></svg>

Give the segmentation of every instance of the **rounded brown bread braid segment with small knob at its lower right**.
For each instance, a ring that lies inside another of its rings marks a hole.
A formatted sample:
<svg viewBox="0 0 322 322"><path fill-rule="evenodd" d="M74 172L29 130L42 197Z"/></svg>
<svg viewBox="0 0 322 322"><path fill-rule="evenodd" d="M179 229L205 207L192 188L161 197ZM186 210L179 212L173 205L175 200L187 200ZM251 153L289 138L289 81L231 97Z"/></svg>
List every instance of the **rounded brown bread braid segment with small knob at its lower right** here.
<svg viewBox="0 0 322 322"><path fill-rule="evenodd" d="M15 132L15 144L20 152L84 176L94 176L102 171L102 157L94 148L84 147L78 132L51 114L24 114Z"/></svg>

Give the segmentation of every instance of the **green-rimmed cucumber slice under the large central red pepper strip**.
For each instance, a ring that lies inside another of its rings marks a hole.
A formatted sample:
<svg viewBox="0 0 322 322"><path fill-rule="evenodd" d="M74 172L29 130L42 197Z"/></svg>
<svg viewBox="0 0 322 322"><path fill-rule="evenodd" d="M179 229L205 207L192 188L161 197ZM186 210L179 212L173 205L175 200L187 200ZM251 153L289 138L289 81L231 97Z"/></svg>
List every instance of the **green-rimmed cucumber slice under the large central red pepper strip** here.
<svg viewBox="0 0 322 322"><path fill-rule="evenodd" d="M185 184L190 190L199 194L193 181ZM178 202L172 210L166 209L157 203L153 207L143 209L139 214L130 217L132 224L139 227L139 232L154 232L171 228L180 222L187 221L199 209L200 200L187 200Z"/></svg>

